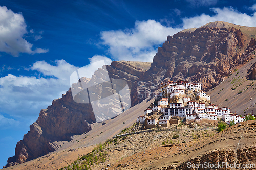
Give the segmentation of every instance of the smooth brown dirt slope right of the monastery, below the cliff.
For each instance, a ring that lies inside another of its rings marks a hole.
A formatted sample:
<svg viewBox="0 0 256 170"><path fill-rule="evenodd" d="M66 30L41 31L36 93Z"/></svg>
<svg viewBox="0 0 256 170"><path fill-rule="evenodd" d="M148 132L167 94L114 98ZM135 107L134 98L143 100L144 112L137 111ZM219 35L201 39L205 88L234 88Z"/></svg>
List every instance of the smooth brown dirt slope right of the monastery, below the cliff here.
<svg viewBox="0 0 256 170"><path fill-rule="evenodd" d="M256 83L255 80L247 80L247 70L256 62L252 59L215 88L209 90L207 95L211 96L211 103L219 107L229 107L231 111L238 114L256 113ZM253 85L253 86L252 86ZM232 90L232 89L234 90ZM238 94L240 91L242 93Z"/></svg>

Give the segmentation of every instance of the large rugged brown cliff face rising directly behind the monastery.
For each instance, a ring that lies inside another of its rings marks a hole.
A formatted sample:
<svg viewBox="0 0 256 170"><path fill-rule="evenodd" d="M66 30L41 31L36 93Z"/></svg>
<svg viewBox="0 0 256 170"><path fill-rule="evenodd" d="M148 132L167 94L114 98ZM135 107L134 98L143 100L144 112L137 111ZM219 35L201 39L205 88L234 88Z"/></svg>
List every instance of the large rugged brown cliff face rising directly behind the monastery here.
<svg viewBox="0 0 256 170"><path fill-rule="evenodd" d="M254 41L251 39L251 46ZM200 27L168 36L150 69L139 78L141 85L132 90L133 104L152 95L166 78L201 82L207 91L251 59L246 50L249 42L249 36L234 27ZM145 91L147 95L140 95Z"/></svg>

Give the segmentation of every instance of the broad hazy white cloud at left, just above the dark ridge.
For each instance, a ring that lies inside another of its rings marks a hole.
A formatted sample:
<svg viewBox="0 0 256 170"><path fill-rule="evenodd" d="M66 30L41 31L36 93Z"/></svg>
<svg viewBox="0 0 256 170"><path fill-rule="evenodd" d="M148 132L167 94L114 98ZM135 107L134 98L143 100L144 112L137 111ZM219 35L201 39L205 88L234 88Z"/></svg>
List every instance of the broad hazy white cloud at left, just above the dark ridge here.
<svg viewBox="0 0 256 170"><path fill-rule="evenodd" d="M12 117L36 118L41 109L51 105L70 88L69 76L78 69L65 60L56 60L56 66L37 61L30 68L38 71L39 77L14 76L0 78L0 113ZM50 78L45 78L49 76Z"/></svg>

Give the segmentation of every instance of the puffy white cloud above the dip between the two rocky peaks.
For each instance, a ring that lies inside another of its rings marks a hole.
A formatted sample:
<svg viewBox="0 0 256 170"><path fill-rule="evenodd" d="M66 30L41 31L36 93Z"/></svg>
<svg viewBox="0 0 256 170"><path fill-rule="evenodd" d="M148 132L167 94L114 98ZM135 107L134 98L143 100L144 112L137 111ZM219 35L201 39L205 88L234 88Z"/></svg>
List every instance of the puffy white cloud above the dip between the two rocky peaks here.
<svg viewBox="0 0 256 170"><path fill-rule="evenodd" d="M109 53L114 59L151 62L155 46L164 42L167 35L180 30L165 27L155 20L136 21L132 29L101 32L101 39L104 45L109 46Z"/></svg>

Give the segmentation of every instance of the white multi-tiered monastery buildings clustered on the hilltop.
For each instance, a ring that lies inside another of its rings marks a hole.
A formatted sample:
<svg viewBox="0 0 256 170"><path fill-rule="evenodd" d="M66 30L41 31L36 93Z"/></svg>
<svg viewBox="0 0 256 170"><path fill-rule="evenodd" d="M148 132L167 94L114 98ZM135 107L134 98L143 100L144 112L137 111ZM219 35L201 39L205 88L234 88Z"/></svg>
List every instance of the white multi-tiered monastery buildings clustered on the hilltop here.
<svg viewBox="0 0 256 170"><path fill-rule="evenodd" d="M150 115L161 115L149 118ZM147 128L157 125L169 127L176 124L177 118L184 118L188 122L202 120L218 121L222 119L227 124L243 122L244 117L231 112L230 108L211 104L210 96L202 90L201 83L187 81L164 81L161 83L156 100L144 110L144 115L137 118L137 123L146 124Z"/></svg>

